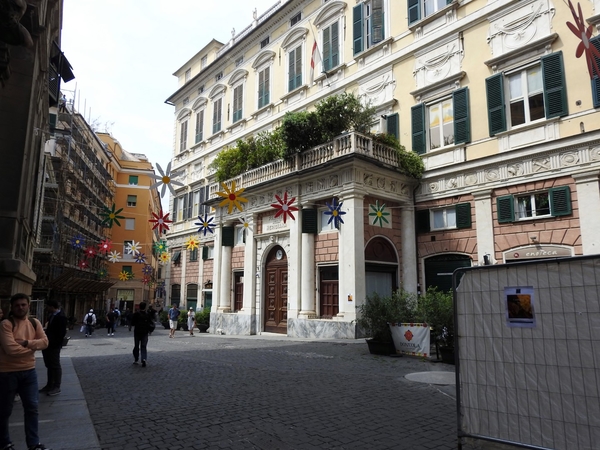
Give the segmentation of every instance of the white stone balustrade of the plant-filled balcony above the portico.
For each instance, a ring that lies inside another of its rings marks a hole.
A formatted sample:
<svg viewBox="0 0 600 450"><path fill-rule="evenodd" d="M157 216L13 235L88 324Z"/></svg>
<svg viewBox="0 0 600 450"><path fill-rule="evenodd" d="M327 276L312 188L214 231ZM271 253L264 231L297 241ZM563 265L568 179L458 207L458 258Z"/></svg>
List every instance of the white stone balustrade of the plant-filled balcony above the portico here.
<svg viewBox="0 0 600 450"><path fill-rule="evenodd" d="M227 180L230 185L235 181L236 187L248 189L252 186L272 181L273 179L307 170L333 161L347 155L367 156L379 163L391 167L399 167L397 150L387 145L375 142L364 134L351 132L334 138L333 141L299 153L295 159L280 159L266 164L235 178ZM210 198L220 191L220 183L211 183L209 186Z"/></svg>

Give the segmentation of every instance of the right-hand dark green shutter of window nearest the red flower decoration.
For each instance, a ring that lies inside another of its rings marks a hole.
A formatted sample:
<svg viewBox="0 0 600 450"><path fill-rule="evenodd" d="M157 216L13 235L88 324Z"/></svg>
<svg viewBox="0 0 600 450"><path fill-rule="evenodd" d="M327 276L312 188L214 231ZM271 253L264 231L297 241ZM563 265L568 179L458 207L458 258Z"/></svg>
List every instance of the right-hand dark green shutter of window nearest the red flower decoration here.
<svg viewBox="0 0 600 450"><path fill-rule="evenodd" d="M566 116L569 111L562 52L542 56L540 61L542 63L542 79L544 80L546 119Z"/></svg>

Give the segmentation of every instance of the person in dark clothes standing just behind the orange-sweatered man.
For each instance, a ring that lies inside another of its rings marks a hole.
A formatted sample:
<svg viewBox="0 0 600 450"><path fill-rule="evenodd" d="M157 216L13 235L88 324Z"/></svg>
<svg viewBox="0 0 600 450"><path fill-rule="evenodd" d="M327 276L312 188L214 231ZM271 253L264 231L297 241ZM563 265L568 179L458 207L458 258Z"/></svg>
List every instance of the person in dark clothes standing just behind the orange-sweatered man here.
<svg viewBox="0 0 600 450"><path fill-rule="evenodd" d="M60 349L67 334L67 316L61 311L56 300L46 300L46 311L48 322L46 324L46 336L48 336L48 348L42 350L44 365L48 370L48 381L40 392L46 392L54 396L60 394L60 383L62 381L62 367L60 366Z"/></svg>

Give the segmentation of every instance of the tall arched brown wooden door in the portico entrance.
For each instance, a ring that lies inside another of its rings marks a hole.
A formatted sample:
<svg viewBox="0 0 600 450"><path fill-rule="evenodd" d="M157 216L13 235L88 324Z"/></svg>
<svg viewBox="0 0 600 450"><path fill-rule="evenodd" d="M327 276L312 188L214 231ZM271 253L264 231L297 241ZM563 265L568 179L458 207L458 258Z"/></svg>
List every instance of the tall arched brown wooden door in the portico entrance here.
<svg viewBox="0 0 600 450"><path fill-rule="evenodd" d="M287 255L271 249L265 267L265 331L287 334Z"/></svg>

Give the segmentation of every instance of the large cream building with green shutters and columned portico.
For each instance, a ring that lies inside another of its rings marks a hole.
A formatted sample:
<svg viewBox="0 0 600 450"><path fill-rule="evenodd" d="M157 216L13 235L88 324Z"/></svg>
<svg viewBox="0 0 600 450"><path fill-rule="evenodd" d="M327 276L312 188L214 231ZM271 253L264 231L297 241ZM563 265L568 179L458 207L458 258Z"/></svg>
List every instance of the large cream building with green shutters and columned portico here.
<svg viewBox="0 0 600 450"><path fill-rule="evenodd" d="M578 4L597 35L600 1ZM168 99L185 184L171 204L170 302L210 304L211 328L227 334L354 338L371 292L447 289L461 266L598 253L600 81L567 22L568 4L548 0L288 0L210 42L175 72ZM243 212L207 210L222 191L209 169L219 151L342 92L376 106L372 131L421 154L421 180L349 133L237 177ZM300 209L287 223L271 206L285 192ZM323 220L333 199L339 229ZM373 223L382 204L390 221ZM214 234L199 235L204 214Z"/></svg>

